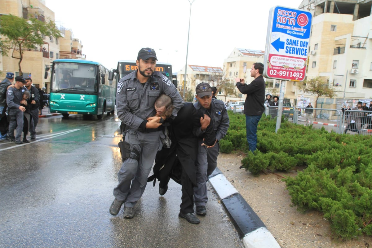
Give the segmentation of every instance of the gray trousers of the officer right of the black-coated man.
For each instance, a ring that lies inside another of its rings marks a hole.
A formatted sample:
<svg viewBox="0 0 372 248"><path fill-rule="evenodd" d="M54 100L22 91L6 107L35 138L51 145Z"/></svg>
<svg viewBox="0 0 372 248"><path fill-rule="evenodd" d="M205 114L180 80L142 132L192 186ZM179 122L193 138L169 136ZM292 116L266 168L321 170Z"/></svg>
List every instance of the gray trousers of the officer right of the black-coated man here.
<svg viewBox="0 0 372 248"><path fill-rule="evenodd" d="M219 152L219 143L213 147L206 148L201 146L202 141L199 141L198 161L196 162L196 187L194 187L194 202L195 205L205 206L208 202L207 181L209 175L217 167L217 156Z"/></svg>

